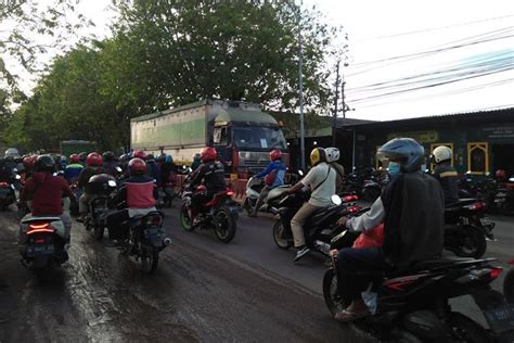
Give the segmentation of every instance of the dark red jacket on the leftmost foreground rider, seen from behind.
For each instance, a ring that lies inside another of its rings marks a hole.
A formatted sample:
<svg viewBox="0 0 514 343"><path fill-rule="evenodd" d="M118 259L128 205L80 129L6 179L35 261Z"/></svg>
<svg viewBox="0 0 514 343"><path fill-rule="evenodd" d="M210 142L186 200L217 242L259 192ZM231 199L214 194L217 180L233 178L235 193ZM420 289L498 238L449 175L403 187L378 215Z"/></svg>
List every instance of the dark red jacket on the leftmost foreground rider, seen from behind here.
<svg viewBox="0 0 514 343"><path fill-rule="evenodd" d="M31 199L34 216L60 216L63 214L63 196L72 196L65 179L50 173L35 173L25 183L22 201Z"/></svg>

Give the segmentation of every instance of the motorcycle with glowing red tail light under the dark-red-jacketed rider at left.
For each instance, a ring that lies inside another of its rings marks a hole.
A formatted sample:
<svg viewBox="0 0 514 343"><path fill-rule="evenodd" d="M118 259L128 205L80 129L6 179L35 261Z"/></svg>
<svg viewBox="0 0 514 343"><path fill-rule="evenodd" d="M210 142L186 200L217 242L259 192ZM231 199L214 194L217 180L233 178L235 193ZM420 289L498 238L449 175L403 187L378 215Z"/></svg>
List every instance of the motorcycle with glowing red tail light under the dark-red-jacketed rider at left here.
<svg viewBox="0 0 514 343"><path fill-rule="evenodd" d="M65 228L61 218L28 217L20 226L20 254L27 269L39 272L68 261Z"/></svg>

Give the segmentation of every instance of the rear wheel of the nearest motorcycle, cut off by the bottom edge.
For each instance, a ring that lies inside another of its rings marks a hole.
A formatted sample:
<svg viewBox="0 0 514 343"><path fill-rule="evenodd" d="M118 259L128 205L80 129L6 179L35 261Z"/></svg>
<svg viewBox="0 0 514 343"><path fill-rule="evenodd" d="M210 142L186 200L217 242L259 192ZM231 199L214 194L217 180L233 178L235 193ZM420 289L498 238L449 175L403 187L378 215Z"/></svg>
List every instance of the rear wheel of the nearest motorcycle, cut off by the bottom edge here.
<svg viewBox="0 0 514 343"><path fill-rule="evenodd" d="M486 329L460 313L451 312L447 318L447 326L451 342L481 343L491 341Z"/></svg>

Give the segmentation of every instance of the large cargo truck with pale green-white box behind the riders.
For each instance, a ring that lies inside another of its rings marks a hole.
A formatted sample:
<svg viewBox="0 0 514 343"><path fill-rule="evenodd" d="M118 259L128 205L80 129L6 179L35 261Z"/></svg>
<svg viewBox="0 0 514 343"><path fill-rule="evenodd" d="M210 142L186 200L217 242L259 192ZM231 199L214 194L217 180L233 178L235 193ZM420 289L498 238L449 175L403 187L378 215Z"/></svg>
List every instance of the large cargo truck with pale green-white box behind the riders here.
<svg viewBox="0 0 514 343"><path fill-rule="evenodd" d="M202 148L216 148L228 173L237 178L262 170L269 152L280 149L288 164L281 125L259 104L201 100L130 120L130 145L147 153L171 154L189 165Z"/></svg>

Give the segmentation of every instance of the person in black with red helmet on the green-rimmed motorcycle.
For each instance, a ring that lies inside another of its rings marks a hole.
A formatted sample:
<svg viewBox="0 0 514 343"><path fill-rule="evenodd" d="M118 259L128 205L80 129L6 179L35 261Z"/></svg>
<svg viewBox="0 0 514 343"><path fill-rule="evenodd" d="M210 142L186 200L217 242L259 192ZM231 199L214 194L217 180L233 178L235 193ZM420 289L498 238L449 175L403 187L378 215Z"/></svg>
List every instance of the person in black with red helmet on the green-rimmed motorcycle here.
<svg viewBox="0 0 514 343"><path fill-rule="evenodd" d="M191 219L193 226L200 223L200 218L196 217L202 211L202 206L213 200L216 193L222 192L227 189L224 182L224 168L223 165L216 161L218 153L213 147L206 147L202 149L201 160L202 164L193 172L191 177L190 189L194 192L196 186L202 183L207 188L206 193L194 193L191 199Z"/></svg>

